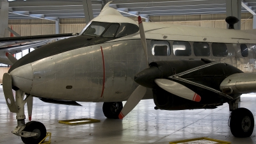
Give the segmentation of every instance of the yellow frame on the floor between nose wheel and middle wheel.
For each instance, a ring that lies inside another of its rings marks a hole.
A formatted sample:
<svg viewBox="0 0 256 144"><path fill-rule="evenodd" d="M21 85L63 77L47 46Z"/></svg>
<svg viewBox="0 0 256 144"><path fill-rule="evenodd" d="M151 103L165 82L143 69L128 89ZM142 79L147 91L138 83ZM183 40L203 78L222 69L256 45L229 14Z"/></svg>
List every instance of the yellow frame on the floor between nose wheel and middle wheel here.
<svg viewBox="0 0 256 144"><path fill-rule="evenodd" d="M68 125L79 125L79 124L93 124L96 122L100 122L100 120L93 119L93 118L79 118L73 120L59 120L61 124L68 124Z"/></svg>

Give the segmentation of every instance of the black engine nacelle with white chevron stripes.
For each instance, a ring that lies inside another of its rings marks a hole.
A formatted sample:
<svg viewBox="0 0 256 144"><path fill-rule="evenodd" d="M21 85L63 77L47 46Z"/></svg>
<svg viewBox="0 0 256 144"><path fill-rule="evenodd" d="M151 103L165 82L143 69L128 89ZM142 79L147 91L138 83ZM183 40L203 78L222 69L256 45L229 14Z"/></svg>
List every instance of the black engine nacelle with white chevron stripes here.
<svg viewBox="0 0 256 144"><path fill-rule="evenodd" d="M220 106L221 104L228 102L230 99L227 99L227 97L223 97L216 92L212 92L209 89L207 90L205 88L195 86L195 84L170 78L170 76L175 74L185 72L191 68L204 66L208 63L211 63L211 61L204 59L156 61L150 63L150 68L146 68L136 74L134 81L147 88L152 88L154 102L159 109L179 110L216 108L216 106ZM227 63L215 63L214 65L207 65L207 67L198 68L197 70L193 70L179 77L221 92L221 82L223 82L226 77L237 73L243 72L232 65L228 65ZM157 86L154 82L155 79L170 79L180 83L200 95L202 100L200 102L194 102L174 95L173 93L166 92ZM232 93L232 97L239 97L240 95L241 94Z"/></svg>

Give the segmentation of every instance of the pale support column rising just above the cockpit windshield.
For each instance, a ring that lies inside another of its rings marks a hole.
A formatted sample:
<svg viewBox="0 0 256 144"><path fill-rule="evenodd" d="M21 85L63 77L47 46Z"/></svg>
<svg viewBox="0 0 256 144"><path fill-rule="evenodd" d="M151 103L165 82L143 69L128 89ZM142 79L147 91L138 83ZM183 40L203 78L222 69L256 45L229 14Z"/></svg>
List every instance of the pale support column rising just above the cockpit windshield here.
<svg viewBox="0 0 256 144"><path fill-rule="evenodd" d="M85 22L88 24L93 19L92 1L83 0Z"/></svg>

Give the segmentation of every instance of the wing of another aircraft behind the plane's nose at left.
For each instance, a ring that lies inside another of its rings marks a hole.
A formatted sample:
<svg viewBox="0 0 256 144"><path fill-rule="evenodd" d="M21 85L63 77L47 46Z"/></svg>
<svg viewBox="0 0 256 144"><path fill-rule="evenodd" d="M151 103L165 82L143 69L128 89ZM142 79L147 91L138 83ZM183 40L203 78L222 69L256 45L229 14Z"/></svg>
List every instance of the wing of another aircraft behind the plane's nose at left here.
<svg viewBox="0 0 256 144"><path fill-rule="evenodd" d="M56 40L75 36L74 33L56 34L56 35L36 35L36 36L16 36L0 38L0 63L12 65L12 62L6 58L6 52L15 54L25 49L37 49L42 45L49 44Z"/></svg>

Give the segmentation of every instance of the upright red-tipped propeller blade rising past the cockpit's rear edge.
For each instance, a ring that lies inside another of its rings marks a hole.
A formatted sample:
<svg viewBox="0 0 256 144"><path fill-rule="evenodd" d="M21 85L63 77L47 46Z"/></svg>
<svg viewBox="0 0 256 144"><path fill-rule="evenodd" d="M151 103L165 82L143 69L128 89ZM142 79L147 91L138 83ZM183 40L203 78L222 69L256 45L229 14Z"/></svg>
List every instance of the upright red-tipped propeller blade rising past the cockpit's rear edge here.
<svg viewBox="0 0 256 144"><path fill-rule="evenodd" d="M138 17L138 20L139 20L139 28L140 28L140 38L141 38L142 46L144 49L145 58L147 60L147 66L148 66L148 52L147 52L147 42L146 42L145 31L144 31L142 19L140 16Z"/></svg>

